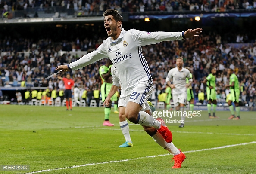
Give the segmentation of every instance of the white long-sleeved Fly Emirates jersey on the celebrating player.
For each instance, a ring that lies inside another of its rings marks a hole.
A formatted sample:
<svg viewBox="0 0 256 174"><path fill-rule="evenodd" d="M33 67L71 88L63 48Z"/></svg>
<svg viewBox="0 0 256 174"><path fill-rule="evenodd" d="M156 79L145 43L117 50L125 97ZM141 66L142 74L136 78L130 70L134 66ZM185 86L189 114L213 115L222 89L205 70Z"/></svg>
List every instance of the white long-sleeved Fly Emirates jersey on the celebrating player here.
<svg viewBox="0 0 256 174"><path fill-rule="evenodd" d="M118 71L123 93L127 96L140 82L147 82L147 88L151 88L153 84L141 46L181 39L183 39L182 32L150 33L135 29L128 31L122 29L116 42L113 42L111 37L107 38L98 49L70 63L69 67L72 70L78 70L95 61L110 58Z"/></svg>

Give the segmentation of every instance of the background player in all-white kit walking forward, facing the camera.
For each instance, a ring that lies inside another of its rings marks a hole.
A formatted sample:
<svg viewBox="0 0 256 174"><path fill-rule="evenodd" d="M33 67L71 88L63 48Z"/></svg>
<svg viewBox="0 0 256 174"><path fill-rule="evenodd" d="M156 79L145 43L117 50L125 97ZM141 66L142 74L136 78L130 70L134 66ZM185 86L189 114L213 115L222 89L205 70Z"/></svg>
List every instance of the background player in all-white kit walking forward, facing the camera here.
<svg viewBox="0 0 256 174"><path fill-rule="evenodd" d="M188 69L182 67L183 58L176 58L177 67L172 68L168 72L168 76L166 77L167 84L172 88L172 100L175 106L175 109L181 110L181 125L180 128L184 127L185 124L185 116L183 116L185 111L185 106L187 103L187 88L191 85L192 79L190 76L190 72ZM188 79L188 83L186 83L186 78ZM172 80L172 84L171 84Z"/></svg>

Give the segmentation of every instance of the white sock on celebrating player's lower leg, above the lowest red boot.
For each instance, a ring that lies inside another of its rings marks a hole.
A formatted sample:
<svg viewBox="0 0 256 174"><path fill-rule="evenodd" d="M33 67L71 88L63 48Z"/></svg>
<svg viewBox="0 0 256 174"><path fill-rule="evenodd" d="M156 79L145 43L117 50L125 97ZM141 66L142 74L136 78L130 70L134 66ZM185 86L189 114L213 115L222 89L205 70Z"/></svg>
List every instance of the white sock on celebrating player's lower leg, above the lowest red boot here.
<svg viewBox="0 0 256 174"><path fill-rule="evenodd" d="M181 152L178 150L177 147L174 146L173 143L167 143L165 139L162 137L162 135L157 131L156 134L152 136L154 141L158 143L161 147L163 147L165 150L168 150L173 155L178 155Z"/></svg>

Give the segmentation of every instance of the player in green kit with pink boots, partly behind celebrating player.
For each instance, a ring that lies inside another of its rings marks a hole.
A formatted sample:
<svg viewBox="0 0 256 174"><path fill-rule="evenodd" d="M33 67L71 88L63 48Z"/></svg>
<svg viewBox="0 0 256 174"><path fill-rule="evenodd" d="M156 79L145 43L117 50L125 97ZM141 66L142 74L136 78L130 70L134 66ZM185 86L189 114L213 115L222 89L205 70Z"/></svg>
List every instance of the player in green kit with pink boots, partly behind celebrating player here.
<svg viewBox="0 0 256 174"><path fill-rule="evenodd" d="M100 77L103 81L100 87L102 101L105 101L112 86L112 75L111 75L112 64L113 64L112 61L110 59L107 59L106 65L101 66L99 70ZM114 124L109 122L111 104L112 102L110 102L110 104L108 105L105 105L105 109L104 109L105 118L104 118L103 126L114 126Z"/></svg>

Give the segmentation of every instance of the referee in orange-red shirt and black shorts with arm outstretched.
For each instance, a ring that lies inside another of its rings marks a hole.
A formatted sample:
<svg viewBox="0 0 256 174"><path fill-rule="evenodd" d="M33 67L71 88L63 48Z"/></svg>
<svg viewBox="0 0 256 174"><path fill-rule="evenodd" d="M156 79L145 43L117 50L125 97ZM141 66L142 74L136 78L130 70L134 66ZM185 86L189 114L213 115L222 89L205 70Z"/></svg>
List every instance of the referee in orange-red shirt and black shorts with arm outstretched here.
<svg viewBox="0 0 256 174"><path fill-rule="evenodd" d="M74 89L74 81L71 79L70 74L65 77L58 76L58 79L62 80L65 85L64 97L66 98L67 110L72 110L72 90Z"/></svg>

